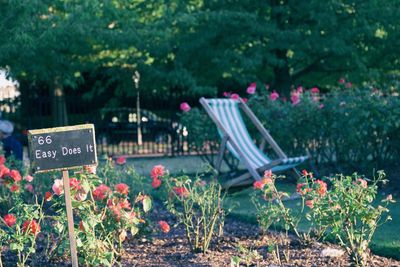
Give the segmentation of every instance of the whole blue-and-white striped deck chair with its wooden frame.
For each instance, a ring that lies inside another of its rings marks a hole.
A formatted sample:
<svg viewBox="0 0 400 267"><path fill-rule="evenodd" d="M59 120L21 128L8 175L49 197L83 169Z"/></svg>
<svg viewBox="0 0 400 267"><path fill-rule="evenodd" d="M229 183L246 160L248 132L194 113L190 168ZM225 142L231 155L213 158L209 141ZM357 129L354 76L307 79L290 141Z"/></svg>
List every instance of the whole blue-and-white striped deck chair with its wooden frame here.
<svg viewBox="0 0 400 267"><path fill-rule="evenodd" d="M239 159L248 170L247 173L226 182L224 184L225 188L249 184L254 181L253 179L260 180L261 176L259 173L269 169L271 169L272 172L292 170L300 177L300 173L295 167L307 160L308 156L288 158L242 99L206 99L202 97L200 103L217 125L219 134L222 137L222 143L215 165L217 171L221 168L226 148ZM250 118L252 123L254 123L265 141L267 141L276 152L278 159L271 160L255 145L243 121L239 107Z"/></svg>

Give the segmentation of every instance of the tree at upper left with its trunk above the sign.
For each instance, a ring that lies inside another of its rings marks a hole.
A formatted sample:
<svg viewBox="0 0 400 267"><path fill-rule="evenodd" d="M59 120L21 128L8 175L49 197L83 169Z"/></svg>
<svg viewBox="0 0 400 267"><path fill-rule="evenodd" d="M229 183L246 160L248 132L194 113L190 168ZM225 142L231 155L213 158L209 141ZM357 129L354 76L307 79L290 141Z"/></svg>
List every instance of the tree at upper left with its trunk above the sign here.
<svg viewBox="0 0 400 267"><path fill-rule="evenodd" d="M53 125L68 124L64 88L84 82L85 72L114 64L125 46L121 39L137 40L132 23L123 30L117 24L134 15L132 7L126 14L127 2L2 1L0 62L19 80L51 89Z"/></svg>

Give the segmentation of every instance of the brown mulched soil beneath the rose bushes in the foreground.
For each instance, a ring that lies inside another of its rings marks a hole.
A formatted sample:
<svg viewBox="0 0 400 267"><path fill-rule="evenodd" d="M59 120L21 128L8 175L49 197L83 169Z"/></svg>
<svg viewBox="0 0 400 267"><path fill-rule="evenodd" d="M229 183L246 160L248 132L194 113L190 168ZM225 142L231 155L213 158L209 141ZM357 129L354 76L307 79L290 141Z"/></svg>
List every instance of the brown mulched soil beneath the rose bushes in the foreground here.
<svg viewBox="0 0 400 267"><path fill-rule="evenodd" d="M170 225L176 221L173 215L155 202L151 219L154 222L165 220ZM146 238L132 238L126 243L123 266L230 266L231 257L241 254L238 245L257 250L261 259L254 260L251 266L350 266L348 256L322 256L326 248L339 249L337 245L315 242L303 246L298 240L282 233L262 234L253 224L227 218L224 236L206 254L192 253L189 250L182 226L171 227L168 234L156 232ZM279 257L276 253L279 247ZM272 249L271 249L272 248ZM286 256L285 256L286 255ZM371 266L400 266L400 261L373 255ZM257 265L258 264L258 265ZM246 266L246 265L241 265Z"/></svg>

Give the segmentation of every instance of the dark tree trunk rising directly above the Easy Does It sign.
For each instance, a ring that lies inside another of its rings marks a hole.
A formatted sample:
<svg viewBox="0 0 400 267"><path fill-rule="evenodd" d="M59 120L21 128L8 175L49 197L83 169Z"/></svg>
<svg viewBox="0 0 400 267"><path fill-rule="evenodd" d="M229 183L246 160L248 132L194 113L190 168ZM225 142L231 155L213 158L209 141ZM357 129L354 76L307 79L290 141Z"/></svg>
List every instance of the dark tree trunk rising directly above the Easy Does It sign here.
<svg viewBox="0 0 400 267"><path fill-rule="evenodd" d="M56 79L52 92L53 126L68 125L67 104L63 86Z"/></svg>

